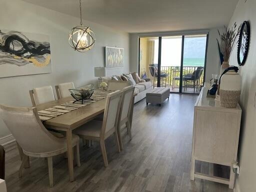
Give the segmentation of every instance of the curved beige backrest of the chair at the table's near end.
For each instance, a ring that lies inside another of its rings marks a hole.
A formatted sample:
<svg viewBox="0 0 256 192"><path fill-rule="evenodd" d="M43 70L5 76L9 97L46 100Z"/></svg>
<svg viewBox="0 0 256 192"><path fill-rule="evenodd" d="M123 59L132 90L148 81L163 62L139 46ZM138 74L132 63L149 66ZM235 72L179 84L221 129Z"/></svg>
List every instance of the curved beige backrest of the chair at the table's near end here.
<svg viewBox="0 0 256 192"><path fill-rule="evenodd" d="M0 105L0 117L21 148L29 153L45 153L63 148L65 139L48 132L36 108Z"/></svg>

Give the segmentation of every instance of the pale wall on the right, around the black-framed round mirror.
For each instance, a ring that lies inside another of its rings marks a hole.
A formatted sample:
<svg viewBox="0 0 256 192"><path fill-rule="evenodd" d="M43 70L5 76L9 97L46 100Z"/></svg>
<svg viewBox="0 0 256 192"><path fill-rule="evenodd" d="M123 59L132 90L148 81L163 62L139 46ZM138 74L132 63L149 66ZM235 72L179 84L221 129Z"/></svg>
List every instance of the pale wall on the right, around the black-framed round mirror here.
<svg viewBox="0 0 256 192"><path fill-rule="evenodd" d="M237 185L241 192L256 191L256 0L239 0L229 26L234 22L242 23L249 20L251 27L251 39L248 57L243 66L239 66L242 79L240 105L242 107L242 122L240 130L240 142L238 157L241 172L237 179ZM229 64L237 65L236 48L234 49Z"/></svg>

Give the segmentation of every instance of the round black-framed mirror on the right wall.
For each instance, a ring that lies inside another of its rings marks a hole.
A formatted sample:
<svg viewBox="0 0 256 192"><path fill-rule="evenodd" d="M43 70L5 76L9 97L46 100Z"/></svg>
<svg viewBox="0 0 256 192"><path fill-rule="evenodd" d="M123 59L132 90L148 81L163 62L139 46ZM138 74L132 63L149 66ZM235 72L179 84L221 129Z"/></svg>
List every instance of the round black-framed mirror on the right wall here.
<svg viewBox="0 0 256 192"><path fill-rule="evenodd" d="M250 43L250 23L248 21L243 21L239 39L238 39L238 48L237 48L237 62L239 65L244 65Z"/></svg>

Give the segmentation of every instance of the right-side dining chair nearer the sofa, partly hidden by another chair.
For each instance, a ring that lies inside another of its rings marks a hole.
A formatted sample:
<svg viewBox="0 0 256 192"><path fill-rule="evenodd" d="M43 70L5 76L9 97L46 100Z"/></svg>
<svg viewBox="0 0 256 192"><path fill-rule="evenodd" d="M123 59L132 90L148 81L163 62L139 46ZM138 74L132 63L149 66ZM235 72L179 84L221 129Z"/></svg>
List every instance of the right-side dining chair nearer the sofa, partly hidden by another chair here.
<svg viewBox="0 0 256 192"><path fill-rule="evenodd" d="M130 109L131 105L133 104L133 86L127 86L122 89L122 99L121 99L121 106L120 106L120 113L117 122L117 135L119 139L120 149L123 149L122 139L121 139L121 127L123 124L126 125L126 129L131 140L131 124L130 124Z"/></svg>

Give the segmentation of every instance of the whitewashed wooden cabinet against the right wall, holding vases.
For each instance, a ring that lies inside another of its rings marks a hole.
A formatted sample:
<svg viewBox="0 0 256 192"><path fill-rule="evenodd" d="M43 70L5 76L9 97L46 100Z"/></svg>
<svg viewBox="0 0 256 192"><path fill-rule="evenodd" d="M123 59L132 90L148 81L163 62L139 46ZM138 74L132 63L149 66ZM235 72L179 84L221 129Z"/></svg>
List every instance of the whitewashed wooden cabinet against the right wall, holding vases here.
<svg viewBox="0 0 256 192"><path fill-rule="evenodd" d="M193 142L190 179L194 177L221 182L233 188L232 163L237 158L241 108L224 108L214 98L207 98L203 87L194 106ZM195 172L195 160L230 166L230 177Z"/></svg>

